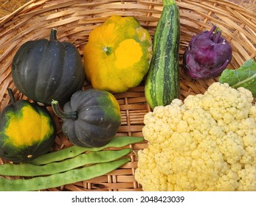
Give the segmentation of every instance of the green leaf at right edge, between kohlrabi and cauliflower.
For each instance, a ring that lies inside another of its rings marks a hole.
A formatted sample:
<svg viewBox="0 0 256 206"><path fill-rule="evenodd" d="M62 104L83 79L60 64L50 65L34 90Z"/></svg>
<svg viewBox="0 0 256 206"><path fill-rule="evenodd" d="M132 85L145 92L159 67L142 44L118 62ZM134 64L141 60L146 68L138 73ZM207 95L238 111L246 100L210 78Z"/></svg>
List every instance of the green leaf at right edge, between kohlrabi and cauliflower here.
<svg viewBox="0 0 256 206"><path fill-rule="evenodd" d="M238 69L226 68L219 79L228 83L232 88L246 88L256 97L256 63L254 59L246 60Z"/></svg>

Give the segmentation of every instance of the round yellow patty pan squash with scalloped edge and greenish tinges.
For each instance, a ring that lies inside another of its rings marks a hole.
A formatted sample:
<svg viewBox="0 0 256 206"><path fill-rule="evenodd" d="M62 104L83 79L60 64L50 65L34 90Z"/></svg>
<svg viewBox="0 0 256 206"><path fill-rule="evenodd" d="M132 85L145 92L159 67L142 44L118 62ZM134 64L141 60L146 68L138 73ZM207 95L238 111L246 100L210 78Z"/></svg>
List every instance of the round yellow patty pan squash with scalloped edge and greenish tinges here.
<svg viewBox="0 0 256 206"><path fill-rule="evenodd" d="M83 49L86 78L93 88L122 93L142 82L152 57L152 40L134 17L112 15L94 28Z"/></svg>

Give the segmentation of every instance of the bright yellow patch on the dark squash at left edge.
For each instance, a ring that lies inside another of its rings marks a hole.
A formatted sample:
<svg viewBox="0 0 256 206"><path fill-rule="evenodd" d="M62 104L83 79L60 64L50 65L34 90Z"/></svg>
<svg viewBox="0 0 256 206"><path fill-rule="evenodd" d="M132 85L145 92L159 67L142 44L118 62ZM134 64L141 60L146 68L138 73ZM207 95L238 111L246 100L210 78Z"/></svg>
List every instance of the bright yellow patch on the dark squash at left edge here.
<svg viewBox="0 0 256 206"><path fill-rule="evenodd" d="M9 141L17 147L32 146L44 140L44 137L53 132L49 118L37 113L30 105L23 107L21 112L10 113L10 120L5 134Z"/></svg>

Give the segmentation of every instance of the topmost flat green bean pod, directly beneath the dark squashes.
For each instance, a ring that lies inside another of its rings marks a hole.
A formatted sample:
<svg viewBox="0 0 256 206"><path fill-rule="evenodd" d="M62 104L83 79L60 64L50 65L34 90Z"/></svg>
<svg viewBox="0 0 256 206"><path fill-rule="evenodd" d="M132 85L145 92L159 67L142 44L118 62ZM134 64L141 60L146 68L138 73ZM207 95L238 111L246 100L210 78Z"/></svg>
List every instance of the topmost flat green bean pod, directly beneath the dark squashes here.
<svg viewBox="0 0 256 206"><path fill-rule="evenodd" d="M31 160L31 164L33 165L44 165L48 163L53 163L61 160L65 160L67 158L75 157L83 152L93 152L93 151L100 151L106 149L108 147L122 147L127 146L131 143L138 143L143 141L144 138L142 137L129 137L129 136L121 136L114 138L105 146L101 147L80 147L80 146L70 146L65 149L61 149L56 152L49 152L47 154L41 155L40 157L36 158L35 160Z"/></svg>

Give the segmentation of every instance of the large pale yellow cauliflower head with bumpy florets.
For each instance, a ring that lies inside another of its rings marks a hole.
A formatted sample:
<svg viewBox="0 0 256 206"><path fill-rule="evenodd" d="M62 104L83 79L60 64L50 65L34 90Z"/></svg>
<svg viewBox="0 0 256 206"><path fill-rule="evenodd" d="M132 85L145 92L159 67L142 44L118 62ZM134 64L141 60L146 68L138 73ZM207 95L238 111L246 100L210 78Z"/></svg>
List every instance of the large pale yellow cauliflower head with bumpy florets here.
<svg viewBox="0 0 256 206"><path fill-rule="evenodd" d="M256 191L252 93L215 82L155 107L142 129L135 179L144 191Z"/></svg>

